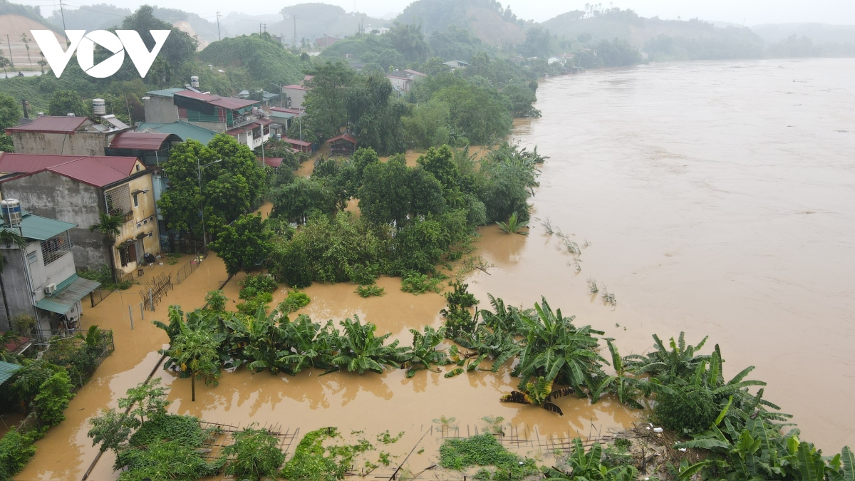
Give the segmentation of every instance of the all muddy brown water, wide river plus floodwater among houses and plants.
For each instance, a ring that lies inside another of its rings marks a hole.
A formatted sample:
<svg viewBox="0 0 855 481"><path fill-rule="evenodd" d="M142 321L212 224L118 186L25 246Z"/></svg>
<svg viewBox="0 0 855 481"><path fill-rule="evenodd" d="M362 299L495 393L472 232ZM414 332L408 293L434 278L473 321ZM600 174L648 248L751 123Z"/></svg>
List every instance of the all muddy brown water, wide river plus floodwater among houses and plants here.
<svg viewBox="0 0 855 481"><path fill-rule="evenodd" d="M769 383L766 399L794 414L805 440L827 453L852 445L853 74L855 60L816 59L653 64L545 80L543 116L514 130L522 145L550 157L532 201L531 235L482 229L480 253L495 266L489 275L475 271L469 289L481 306L487 293L524 306L544 295L576 324L606 330L623 354L644 352L653 333L667 339L683 330L692 342L709 335L708 348L722 346L725 376L756 365L750 377ZM546 219L582 246L577 261L557 234L545 234ZM134 330L127 304L139 305L137 288L86 309L85 326L115 330L116 353L16 479L80 479L97 453L87 419L115 407L159 359L167 338L150 319L165 320L168 304L201 306L203 293L226 278L219 259L204 260L145 321L138 308ZM230 298L239 278L225 288ZM615 294L616 306L590 294L589 279ZM349 284L315 284L302 312L316 321L357 314L404 342L410 328L440 324L439 295L404 294L398 279L379 283L386 296L369 299ZM172 387L170 411L211 422L405 431L384 447L399 456L394 463L440 416L456 418L462 432L483 428L482 416L501 416L540 436L586 436L639 416L609 399L591 406L563 398L563 418L500 403L516 385L506 370L451 379L426 371L411 379L403 371L318 374L224 373L218 387L198 386L196 402L188 380L156 376ZM408 463L416 471L436 459L437 437L422 444L428 451ZM112 463L105 454L90 478L115 479Z"/></svg>

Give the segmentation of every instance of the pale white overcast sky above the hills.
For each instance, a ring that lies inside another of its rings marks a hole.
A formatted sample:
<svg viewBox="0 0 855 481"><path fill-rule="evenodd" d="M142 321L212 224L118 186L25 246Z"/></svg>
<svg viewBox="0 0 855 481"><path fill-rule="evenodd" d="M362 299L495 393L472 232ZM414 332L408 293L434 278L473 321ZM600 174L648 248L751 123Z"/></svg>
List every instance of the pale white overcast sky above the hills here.
<svg viewBox="0 0 855 481"><path fill-rule="evenodd" d="M13 0L15 1L15 0ZM58 8L55 0L19 0L29 5L39 5L44 15ZM369 15L380 17L390 13L399 13L409 0L286 0L285 2L255 1L234 2L233 0L182 0L165 2L163 0L73 0L67 1L70 7L92 3L113 3L117 7L135 9L140 4L151 3L161 7L183 9L211 18L217 10L223 15L230 12L242 12L251 15L274 14L282 7L309 1L333 3L347 11L356 9ZM545 21L555 15L573 9L584 9L585 3L594 0L512 0L511 10L525 19ZM505 6L508 3L504 3ZM608 7L610 3L603 3ZM641 16L658 15L663 19L686 20L699 17L705 21L728 21L743 23L746 26L760 23L785 22L822 22L836 25L855 24L855 0L629 0L611 4L621 9L634 9Z"/></svg>

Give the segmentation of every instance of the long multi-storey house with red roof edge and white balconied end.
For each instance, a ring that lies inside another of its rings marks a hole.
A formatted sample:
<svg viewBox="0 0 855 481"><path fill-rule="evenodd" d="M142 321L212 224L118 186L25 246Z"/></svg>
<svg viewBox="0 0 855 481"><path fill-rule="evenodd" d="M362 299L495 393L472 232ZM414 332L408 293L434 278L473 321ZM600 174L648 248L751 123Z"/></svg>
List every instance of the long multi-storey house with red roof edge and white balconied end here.
<svg viewBox="0 0 855 481"><path fill-rule="evenodd" d="M273 123L257 100L221 97L183 88L146 92L143 105L146 122L188 122L217 133L225 132L251 149L268 140L268 126Z"/></svg>

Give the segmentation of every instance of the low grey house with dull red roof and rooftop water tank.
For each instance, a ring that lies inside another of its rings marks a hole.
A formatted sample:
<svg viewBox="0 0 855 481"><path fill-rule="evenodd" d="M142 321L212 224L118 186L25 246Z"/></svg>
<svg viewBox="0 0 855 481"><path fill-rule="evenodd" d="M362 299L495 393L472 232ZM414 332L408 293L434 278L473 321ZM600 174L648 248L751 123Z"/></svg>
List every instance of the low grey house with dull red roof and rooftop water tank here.
<svg viewBox="0 0 855 481"><path fill-rule="evenodd" d="M87 117L38 116L32 122L7 128L6 134L12 137L16 152L97 156L104 154L116 134L131 129L114 116L102 119L107 125Z"/></svg>

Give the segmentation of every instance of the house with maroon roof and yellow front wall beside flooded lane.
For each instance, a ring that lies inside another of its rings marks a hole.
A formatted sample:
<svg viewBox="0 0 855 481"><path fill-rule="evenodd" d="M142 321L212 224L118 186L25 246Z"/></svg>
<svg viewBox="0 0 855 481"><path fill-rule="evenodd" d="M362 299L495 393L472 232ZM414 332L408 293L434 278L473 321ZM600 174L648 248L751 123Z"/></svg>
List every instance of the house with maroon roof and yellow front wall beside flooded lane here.
<svg viewBox="0 0 855 481"><path fill-rule="evenodd" d="M137 157L3 153L0 172L4 199L77 226L69 238L79 267L107 264L117 277L127 276L146 253L160 253L152 171ZM89 230L102 212L124 221L115 239Z"/></svg>

